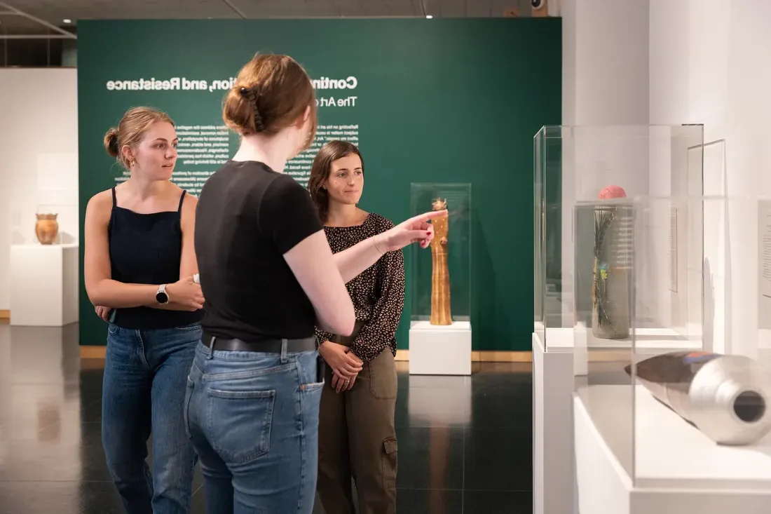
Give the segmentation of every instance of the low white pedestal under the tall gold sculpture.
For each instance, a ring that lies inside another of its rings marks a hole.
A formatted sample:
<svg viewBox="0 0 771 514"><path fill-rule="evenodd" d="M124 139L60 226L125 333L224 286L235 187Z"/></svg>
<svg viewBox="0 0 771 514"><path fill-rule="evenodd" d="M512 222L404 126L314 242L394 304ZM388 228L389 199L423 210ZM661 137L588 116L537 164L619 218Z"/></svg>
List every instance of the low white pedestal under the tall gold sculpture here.
<svg viewBox="0 0 771 514"><path fill-rule="evenodd" d="M470 375L471 322L432 325L413 321L409 326L409 374Z"/></svg>

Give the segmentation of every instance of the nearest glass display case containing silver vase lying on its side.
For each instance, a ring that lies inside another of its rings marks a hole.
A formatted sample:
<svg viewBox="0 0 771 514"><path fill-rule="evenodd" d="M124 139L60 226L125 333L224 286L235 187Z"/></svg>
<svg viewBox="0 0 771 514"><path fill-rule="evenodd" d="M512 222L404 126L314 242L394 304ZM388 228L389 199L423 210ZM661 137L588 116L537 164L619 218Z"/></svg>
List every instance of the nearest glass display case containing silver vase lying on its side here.
<svg viewBox="0 0 771 514"><path fill-rule="evenodd" d="M591 284L575 289L576 444L598 435L634 488L767 493L771 201L641 195L573 212L574 244L593 249L574 268Z"/></svg>

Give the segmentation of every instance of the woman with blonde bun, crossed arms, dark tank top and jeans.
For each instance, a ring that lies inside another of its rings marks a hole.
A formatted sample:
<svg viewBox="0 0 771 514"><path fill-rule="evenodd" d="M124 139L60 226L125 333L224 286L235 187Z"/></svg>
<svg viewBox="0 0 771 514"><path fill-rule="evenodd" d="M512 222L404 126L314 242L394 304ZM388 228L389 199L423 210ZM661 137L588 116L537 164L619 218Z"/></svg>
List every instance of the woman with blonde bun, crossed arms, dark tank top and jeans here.
<svg viewBox="0 0 771 514"><path fill-rule="evenodd" d="M89 200L84 228L86 293L109 323L102 393L107 468L128 514L187 514L196 455L183 404L204 305L193 280L197 201L170 182L177 134L166 113L133 108L104 144L130 174Z"/></svg>

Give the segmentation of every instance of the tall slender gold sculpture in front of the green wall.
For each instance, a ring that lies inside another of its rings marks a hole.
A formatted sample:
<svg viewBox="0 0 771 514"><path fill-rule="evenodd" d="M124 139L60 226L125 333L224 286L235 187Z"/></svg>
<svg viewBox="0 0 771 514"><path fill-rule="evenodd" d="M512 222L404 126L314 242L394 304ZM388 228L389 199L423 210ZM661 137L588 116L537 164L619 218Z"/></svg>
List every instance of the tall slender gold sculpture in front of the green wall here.
<svg viewBox="0 0 771 514"><path fill-rule="evenodd" d="M436 198L434 211L447 208L447 201ZM453 317L449 309L449 269L447 268L448 215L433 218L434 238L431 241L431 320L432 325L450 325Z"/></svg>

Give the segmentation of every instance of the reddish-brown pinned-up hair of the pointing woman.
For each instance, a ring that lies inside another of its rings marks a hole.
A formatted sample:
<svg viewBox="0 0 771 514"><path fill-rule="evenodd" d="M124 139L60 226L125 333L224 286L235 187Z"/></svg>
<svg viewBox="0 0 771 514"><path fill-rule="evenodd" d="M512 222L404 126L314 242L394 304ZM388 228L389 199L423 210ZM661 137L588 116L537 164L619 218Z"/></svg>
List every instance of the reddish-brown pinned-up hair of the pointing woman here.
<svg viewBox="0 0 771 514"><path fill-rule="evenodd" d="M316 135L316 94L305 69L289 56L264 54L254 56L238 72L227 93L222 118L238 134L277 134L295 123L311 108L311 135L307 150Z"/></svg>

